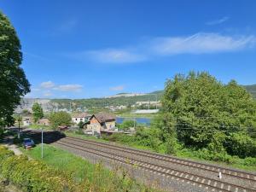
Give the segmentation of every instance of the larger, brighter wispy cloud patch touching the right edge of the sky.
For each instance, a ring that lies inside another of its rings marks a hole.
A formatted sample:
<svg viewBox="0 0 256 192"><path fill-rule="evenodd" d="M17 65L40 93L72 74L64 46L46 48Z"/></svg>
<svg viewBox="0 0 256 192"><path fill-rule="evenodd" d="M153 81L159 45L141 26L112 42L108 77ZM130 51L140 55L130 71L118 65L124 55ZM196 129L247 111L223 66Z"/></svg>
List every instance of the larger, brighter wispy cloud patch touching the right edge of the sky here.
<svg viewBox="0 0 256 192"><path fill-rule="evenodd" d="M236 51L256 44L254 36L223 36L218 33L196 33L189 37L156 38L151 49L156 55L207 54Z"/></svg>

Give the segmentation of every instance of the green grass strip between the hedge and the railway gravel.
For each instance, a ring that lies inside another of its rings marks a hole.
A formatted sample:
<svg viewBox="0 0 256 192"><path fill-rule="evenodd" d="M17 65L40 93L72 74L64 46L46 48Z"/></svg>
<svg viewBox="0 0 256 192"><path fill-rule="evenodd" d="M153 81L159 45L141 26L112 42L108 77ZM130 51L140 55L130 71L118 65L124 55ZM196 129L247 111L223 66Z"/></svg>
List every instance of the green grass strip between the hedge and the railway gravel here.
<svg viewBox="0 0 256 192"><path fill-rule="evenodd" d="M34 160L42 160L40 144L38 144L35 148L32 148L32 150L26 150L24 148L21 148L21 150L24 152L24 154L28 155ZM70 174L76 183L84 184L84 187L86 188L85 191L159 191L146 187L141 183L137 183L137 181L127 174L127 172L120 168L110 171L103 168L101 164L91 164L88 160L84 160L83 158L71 154L66 150L62 150L61 148L56 148L48 144L44 144L43 161L48 166Z"/></svg>

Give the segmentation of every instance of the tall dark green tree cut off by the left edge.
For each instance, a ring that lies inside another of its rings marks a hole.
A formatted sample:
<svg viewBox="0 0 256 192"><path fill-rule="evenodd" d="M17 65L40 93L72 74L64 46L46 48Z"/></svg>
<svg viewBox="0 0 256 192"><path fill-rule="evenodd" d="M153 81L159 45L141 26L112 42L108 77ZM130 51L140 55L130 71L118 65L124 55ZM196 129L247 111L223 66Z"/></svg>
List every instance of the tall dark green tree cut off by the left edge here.
<svg viewBox="0 0 256 192"><path fill-rule="evenodd" d="M0 127L13 125L12 114L20 97L30 91L30 84L20 67L20 40L9 19L0 12Z"/></svg>

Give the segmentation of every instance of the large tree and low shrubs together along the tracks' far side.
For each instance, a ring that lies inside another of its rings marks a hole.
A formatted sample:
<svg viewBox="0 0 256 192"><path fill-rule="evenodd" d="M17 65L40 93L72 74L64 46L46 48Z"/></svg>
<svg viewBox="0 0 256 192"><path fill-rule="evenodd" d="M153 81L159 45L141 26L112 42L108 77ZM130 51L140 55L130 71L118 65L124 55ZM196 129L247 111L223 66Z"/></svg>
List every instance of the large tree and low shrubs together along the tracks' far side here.
<svg viewBox="0 0 256 192"><path fill-rule="evenodd" d="M178 74L166 81L161 102L149 129L139 128L133 137L105 139L256 166L256 101L236 81L222 84L208 73Z"/></svg>

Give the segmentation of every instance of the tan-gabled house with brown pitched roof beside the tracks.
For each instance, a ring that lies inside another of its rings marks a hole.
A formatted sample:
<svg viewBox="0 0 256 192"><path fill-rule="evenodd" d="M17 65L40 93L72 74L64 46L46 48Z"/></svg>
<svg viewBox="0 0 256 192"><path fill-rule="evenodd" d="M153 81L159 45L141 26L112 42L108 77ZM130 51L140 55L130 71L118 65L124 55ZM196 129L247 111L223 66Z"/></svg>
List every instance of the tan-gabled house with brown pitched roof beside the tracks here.
<svg viewBox="0 0 256 192"><path fill-rule="evenodd" d="M86 131L91 131L92 135L100 135L102 131L113 131L114 129L115 116L110 113L93 114L86 125Z"/></svg>

